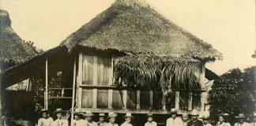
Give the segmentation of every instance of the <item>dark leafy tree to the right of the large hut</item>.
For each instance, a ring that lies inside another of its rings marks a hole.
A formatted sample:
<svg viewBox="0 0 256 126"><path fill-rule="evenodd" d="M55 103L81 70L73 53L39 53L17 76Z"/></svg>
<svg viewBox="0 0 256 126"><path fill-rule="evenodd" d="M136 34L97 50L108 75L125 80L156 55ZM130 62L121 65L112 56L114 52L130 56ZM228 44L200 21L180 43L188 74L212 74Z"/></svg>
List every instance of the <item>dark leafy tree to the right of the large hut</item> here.
<svg viewBox="0 0 256 126"><path fill-rule="evenodd" d="M256 88L256 66L244 69L231 69L215 80L209 91L210 114L216 117L220 113L229 113L230 121L235 116L254 113L254 99Z"/></svg>

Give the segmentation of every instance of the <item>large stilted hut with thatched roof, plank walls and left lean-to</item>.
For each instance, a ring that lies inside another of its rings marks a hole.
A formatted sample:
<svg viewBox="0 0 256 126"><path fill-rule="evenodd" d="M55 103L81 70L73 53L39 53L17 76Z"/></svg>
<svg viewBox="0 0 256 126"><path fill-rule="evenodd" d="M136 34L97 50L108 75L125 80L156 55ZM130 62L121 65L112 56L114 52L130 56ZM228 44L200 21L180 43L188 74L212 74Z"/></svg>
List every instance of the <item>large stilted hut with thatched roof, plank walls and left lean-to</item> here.
<svg viewBox="0 0 256 126"><path fill-rule="evenodd" d="M221 59L213 46L147 3L116 0L59 46L7 69L3 85L41 73L45 108L51 99L65 98L70 102L62 107L81 112L164 115L173 107L179 113L203 112L205 75L209 80L216 77L205 63ZM56 75L62 76L62 86L51 85ZM57 97L51 91L62 93Z"/></svg>

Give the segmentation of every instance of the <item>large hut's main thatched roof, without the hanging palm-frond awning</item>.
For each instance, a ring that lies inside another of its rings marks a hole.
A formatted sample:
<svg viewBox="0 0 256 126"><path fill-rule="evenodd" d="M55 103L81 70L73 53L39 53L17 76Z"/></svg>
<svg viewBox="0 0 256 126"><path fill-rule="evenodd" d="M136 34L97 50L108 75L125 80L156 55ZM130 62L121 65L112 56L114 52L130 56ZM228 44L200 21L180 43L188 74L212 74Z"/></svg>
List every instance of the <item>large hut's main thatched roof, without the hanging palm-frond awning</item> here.
<svg viewBox="0 0 256 126"><path fill-rule="evenodd" d="M85 46L131 54L194 57L200 61L222 59L209 43L172 23L141 0L117 0L61 45L69 50Z"/></svg>

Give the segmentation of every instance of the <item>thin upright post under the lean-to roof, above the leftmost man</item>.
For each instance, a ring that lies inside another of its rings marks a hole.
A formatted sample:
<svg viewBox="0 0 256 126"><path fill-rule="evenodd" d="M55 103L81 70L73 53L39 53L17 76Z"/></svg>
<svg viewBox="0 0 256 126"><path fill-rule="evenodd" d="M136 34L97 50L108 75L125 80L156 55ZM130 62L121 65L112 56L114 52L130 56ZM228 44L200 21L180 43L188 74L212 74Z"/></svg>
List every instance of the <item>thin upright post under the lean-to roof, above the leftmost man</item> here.
<svg viewBox="0 0 256 126"><path fill-rule="evenodd" d="M48 109L48 58L45 61L45 97L44 97L44 108Z"/></svg>

